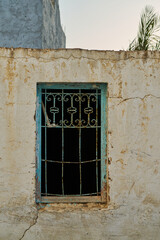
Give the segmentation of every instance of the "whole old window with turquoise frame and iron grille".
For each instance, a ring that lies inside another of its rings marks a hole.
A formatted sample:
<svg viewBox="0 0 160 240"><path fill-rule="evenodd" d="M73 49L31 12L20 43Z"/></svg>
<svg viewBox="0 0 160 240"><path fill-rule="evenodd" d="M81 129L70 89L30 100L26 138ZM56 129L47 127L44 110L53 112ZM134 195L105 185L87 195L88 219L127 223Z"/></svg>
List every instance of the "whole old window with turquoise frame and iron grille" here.
<svg viewBox="0 0 160 240"><path fill-rule="evenodd" d="M106 84L37 85L37 202L106 201Z"/></svg>

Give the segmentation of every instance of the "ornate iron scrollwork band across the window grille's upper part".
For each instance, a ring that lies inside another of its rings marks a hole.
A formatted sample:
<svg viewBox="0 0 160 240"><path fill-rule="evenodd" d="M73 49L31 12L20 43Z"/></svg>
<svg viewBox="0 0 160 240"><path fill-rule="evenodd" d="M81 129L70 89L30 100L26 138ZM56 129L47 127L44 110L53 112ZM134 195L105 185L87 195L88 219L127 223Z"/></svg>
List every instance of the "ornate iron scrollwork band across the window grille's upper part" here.
<svg viewBox="0 0 160 240"><path fill-rule="evenodd" d="M98 126L97 101L96 93L46 93L45 104L42 102L46 125L80 128ZM62 116L57 118L58 114Z"/></svg>

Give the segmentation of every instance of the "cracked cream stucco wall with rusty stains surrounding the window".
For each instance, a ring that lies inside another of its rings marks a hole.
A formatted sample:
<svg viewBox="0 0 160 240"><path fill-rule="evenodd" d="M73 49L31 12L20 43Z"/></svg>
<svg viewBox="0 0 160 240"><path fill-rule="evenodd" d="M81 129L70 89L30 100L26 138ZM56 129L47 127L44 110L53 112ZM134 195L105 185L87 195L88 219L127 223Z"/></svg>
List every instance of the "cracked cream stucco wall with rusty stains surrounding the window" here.
<svg viewBox="0 0 160 240"><path fill-rule="evenodd" d="M0 69L0 239L159 240L160 52L0 49ZM37 82L108 83L108 204L35 204Z"/></svg>

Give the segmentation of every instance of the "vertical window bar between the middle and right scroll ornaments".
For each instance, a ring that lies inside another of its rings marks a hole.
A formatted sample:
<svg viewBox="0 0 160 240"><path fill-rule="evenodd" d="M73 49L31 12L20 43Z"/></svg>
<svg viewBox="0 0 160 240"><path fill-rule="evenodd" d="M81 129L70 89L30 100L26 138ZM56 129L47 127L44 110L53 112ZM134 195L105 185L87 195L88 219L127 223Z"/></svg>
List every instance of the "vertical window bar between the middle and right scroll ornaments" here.
<svg viewBox="0 0 160 240"><path fill-rule="evenodd" d="M80 175L80 195L82 195L82 166L81 166L81 90L79 90L79 175Z"/></svg>

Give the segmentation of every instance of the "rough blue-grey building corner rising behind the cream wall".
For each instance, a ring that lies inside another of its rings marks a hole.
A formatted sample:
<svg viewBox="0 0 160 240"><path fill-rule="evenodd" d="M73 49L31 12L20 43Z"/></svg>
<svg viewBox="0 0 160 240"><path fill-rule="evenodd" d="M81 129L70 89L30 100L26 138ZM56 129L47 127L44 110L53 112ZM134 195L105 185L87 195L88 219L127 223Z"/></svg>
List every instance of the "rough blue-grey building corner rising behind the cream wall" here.
<svg viewBox="0 0 160 240"><path fill-rule="evenodd" d="M65 47L58 1L0 0L0 46Z"/></svg>

